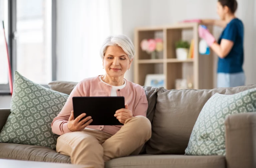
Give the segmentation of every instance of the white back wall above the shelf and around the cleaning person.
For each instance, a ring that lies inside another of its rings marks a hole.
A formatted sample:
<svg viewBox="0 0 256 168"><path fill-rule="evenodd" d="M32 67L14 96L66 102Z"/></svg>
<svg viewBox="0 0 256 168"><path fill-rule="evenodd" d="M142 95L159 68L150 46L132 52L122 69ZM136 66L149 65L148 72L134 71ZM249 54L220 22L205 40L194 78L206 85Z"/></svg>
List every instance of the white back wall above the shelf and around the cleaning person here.
<svg viewBox="0 0 256 168"><path fill-rule="evenodd" d="M217 19L216 1L205 0L151 0L151 25L173 24L184 19ZM256 0L238 0L236 13L245 27L244 71L246 84L256 84ZM215 27L214 36L219 37L222 29Z"/></svg>

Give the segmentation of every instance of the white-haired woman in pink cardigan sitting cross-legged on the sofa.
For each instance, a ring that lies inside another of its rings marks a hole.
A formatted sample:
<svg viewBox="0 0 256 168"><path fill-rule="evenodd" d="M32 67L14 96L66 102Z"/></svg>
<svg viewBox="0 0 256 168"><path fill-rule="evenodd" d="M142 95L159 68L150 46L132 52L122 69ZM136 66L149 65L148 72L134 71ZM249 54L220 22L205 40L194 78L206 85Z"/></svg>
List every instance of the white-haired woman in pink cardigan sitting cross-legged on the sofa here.
<svg viewBox="0 0 256 168"><path fill-rule="evenodd" d="M53 119L52 131L61 135L57 139L56 150L70 156L73 164L103 168L104 162L110 159L138 154L151 137L144 89L124 79L134 55L134 46L129 38L124 35L108 37L100 51L105 75L79 82ZM124 125L90 126L93 120L90 116L80 121L85 113L74 119L73 96L124 96L125 108L114 114Z"/></svg>

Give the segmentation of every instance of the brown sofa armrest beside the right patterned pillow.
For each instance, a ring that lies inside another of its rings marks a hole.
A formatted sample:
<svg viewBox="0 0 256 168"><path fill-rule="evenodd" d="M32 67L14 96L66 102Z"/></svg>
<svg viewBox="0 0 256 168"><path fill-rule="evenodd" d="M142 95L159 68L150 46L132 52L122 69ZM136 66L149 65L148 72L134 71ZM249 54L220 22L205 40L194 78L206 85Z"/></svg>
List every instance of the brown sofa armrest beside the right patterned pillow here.
<svg viewBox="0 0 256 168"><path fill-rule="evenodd" d="M225 120L227 168L256 168L256 112Z"/></svg>

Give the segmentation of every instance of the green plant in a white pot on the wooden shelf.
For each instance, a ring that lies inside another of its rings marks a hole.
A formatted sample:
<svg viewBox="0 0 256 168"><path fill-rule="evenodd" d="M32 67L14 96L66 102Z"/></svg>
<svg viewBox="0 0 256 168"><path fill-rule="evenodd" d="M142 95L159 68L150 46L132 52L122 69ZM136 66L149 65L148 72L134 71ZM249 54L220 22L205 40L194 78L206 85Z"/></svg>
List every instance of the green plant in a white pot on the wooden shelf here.
<svg viewBox="0 0 256 168"><path fill-rule="evenodd" d="M175 43L176 46L176 58L178 60L186 60L188 58L189 43L187 41L180 40Z"/></svg>

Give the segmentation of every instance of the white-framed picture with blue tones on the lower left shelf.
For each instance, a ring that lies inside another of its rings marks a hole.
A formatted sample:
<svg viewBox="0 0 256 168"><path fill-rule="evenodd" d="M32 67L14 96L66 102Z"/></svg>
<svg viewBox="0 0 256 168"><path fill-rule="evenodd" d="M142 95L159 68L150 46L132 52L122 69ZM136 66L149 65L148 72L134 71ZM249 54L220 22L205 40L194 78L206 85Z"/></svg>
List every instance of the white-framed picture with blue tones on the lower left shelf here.
<svg viewBox="0 0 256 168"><path fill-rule="evenodd" d="M165 76L164 74L147 74L144 85L153 87L164 87Z"/></svg>

